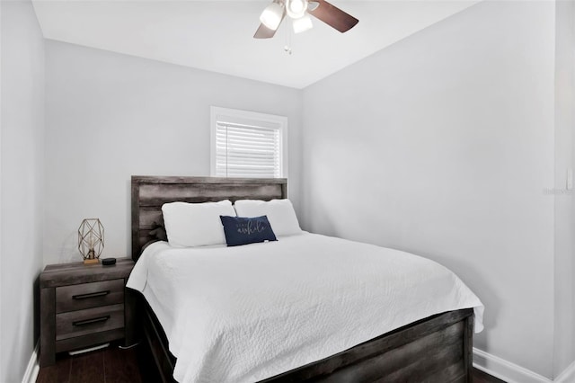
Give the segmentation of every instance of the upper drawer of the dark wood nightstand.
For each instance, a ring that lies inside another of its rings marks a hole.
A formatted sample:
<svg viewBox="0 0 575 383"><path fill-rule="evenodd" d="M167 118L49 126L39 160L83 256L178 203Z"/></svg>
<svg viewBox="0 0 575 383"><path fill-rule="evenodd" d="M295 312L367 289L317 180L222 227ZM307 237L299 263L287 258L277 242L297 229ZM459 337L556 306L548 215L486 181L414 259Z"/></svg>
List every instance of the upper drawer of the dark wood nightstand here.
<svg viewBox="0 0 575 383"><path fill-rule="evenodd" d="M124 280L83 283L56 288L56 312L122 303Z"/></svg>

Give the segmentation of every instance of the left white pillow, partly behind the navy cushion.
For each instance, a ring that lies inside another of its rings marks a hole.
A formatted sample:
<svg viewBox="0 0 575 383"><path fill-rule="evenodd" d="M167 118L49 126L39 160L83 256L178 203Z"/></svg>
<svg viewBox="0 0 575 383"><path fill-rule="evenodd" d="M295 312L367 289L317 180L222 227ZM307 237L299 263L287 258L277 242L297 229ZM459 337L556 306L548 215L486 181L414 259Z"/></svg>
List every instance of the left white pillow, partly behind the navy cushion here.
<svg viewBox="0 0 575 383"><path fill-rule="evenodd" d="M162 206L168 243L177 247L226 244L219 216L235 217L229 200L219 202L171 202Z"/></svg>

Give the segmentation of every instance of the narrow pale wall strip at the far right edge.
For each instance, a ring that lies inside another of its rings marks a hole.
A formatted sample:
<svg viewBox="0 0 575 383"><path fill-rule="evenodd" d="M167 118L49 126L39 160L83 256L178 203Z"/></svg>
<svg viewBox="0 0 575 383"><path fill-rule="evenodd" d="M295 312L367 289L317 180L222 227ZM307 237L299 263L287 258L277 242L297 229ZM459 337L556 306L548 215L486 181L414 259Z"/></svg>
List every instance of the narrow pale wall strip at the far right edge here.
<svg viewBox="0 0 575 383"><path fill-rule="evenodd" d="M575 3L559 1L555 41L555 326L553 376L575 361L575 205L566 190L575 168Z"/></svg>

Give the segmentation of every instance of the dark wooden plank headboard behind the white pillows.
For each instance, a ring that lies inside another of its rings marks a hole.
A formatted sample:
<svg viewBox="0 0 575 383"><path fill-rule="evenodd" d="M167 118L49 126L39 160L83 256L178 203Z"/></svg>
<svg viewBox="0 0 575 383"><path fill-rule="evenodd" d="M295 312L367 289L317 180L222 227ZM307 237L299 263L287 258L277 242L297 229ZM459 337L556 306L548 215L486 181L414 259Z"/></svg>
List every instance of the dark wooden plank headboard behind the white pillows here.
<svg viewBox="0 0 575 383"><path fill-rule="evenodd" d="M162 205L167 202L208 202L218 200L273 200L288 198L285 178L164 177L132 175L132 259L142 246L154 239L149 235L155 223L164 226Z"/></svg>

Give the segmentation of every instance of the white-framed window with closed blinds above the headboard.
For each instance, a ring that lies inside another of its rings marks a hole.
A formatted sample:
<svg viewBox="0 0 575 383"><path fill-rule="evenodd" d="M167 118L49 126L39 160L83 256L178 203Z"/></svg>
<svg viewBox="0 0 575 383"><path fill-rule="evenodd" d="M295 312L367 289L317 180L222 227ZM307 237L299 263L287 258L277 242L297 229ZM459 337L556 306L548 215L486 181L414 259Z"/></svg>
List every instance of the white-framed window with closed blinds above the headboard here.
<svg viewBox="0 0 575 383"><path fill-rule="evenodd" d="M280 178L288 174L288 118L211 108L211 174Z"/></svg>

